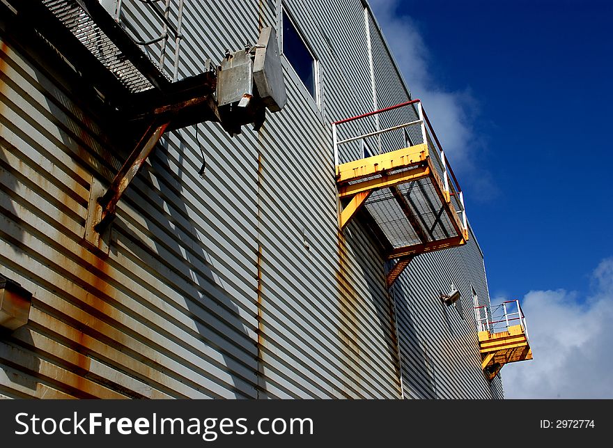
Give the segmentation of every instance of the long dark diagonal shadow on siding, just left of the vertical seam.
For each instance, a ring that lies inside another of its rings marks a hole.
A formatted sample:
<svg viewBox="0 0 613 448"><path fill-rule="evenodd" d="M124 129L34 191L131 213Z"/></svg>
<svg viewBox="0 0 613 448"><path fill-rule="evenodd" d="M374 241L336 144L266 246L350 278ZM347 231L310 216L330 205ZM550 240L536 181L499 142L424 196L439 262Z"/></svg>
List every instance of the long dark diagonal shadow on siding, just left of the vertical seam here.
<svg viewBox="0 0 613 448"><path fill-rule="evenodd" d="M160 265L160 271L155 272L155 268L152 269L153 275L167 281L174 292L185 300L189 316L193 319L192 325L185 331L192 333L198 340L196 344L201 343L202 346L196 348L176 340L176 343L192 351L190 355L195 357L191 362L181 362L198 375L209 377L212 381L209 387L213 394L215 388L219 387L233 391L235 398L257 398L256 341L251 336L254 332L249 334L241 318L241 314L245 315L249 310L239 308L233 301L233 288L226 288L226 279L212 270L215 258L209 248L215 245L205 240L207 237L203 224L197 222L198 218L206 221L208 217L203 215L202 208L190 208L184 196L189 194L185 190L189 178L184 179L185 167L188 166L185 164L184 154L190 148L181 139L181 134L183 132L175 133L180 139L176 162L170 160L167 155L168 139L163 139L150 156L152 169L149 176L155 181L154 185L157 184L159 191L150 192L148 199L156 210L165 211L160 219L166 221L154 222L146 217L155 251L153 254L143 251L139 256L146 263L150 263L152 268ZM171 167L174 163L178 166ZM143 170L141 176L144 178L147 173ZM205 178L202 182L208 180ZM198 185L192 187L196 188L196 194L203 194L200 200L205 201L203 189L199 189ZM219 268L217 270L219 271ZM171 305L177 307L180 303ZM175 335L169 337L176 339ZM217 375L209 372L206 364L201 363L201 358L219 369L219 377L227 376L226 379L217 379ZM200 386L194 384L193 387ZM226 392L219 391L219 396L226 395Z"/></svg>

